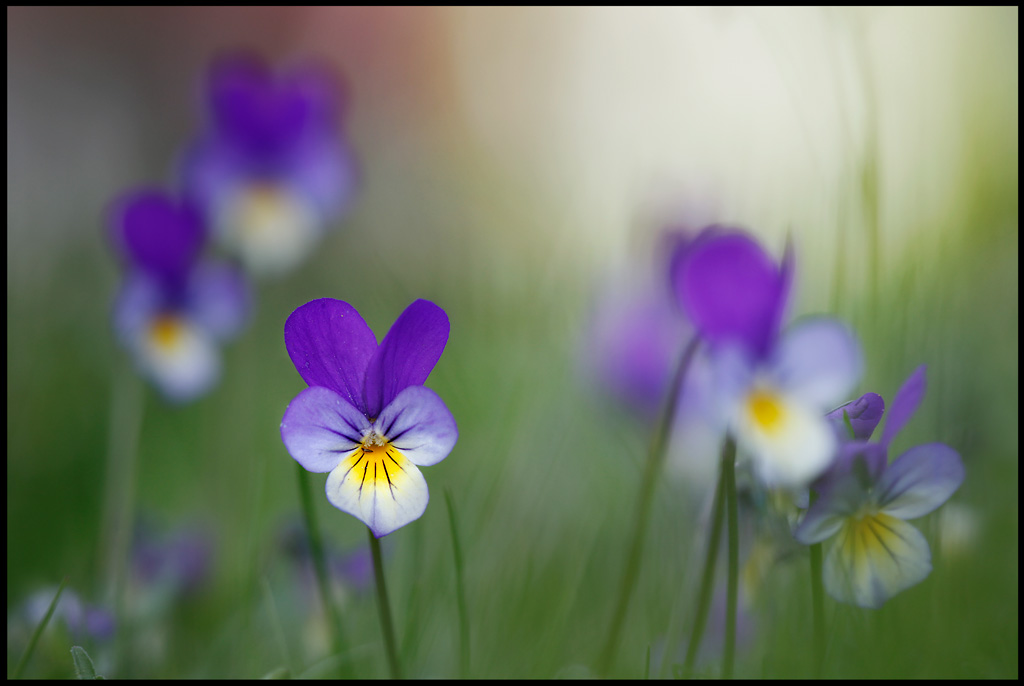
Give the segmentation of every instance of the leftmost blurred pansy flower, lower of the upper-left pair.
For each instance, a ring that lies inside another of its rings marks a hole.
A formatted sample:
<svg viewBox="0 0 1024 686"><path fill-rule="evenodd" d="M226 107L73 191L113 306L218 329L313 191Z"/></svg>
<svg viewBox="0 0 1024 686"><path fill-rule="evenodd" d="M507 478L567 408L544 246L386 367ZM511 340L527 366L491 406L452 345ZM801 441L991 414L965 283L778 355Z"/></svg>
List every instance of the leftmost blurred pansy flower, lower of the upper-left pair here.
<svg viewBox="0 0 1024 686"><path fill-rule="evenodd" d="M244 276L200 260L200 216L160 190L121 197L110 230L127 268L114 305L119 341L168 399L202 395L220 375L218 343L238 334L248 316Z"/></svg>

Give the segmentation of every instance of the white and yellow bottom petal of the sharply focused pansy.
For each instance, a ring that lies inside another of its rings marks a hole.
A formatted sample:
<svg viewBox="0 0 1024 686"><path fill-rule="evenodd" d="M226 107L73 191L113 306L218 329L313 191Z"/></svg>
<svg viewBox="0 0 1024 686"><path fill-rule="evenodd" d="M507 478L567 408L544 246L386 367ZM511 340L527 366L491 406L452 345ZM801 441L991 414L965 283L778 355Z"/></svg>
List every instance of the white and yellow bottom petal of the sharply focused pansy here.
<svg viewBox="0 0 1024 686"><path fill-rule="evenodd" d="M401 452L374 446L355 448L331 472L327 499L379 539L419 519L430 494L420 470Z"/></svg>

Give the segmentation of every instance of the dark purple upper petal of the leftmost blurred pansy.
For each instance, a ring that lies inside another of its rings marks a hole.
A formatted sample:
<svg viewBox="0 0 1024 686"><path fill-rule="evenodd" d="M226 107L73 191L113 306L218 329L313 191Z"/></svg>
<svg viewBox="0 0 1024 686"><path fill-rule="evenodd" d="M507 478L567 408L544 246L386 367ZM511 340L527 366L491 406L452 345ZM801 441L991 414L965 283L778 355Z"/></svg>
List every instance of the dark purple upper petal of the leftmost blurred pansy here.
<svg viewBox="0 0 1024 686"><path fill-rule="evenodd" d="M199 215L150 188L115 201L110 218L115 245L133 264L171 286L181 286L205 238Z"/></svg>

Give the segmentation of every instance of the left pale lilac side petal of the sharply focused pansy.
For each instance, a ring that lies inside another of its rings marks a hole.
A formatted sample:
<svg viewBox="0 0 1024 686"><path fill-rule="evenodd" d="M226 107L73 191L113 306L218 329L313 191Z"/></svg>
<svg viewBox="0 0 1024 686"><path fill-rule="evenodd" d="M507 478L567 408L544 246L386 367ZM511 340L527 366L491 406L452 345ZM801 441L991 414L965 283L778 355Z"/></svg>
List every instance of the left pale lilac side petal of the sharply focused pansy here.
<svg viewBox="0 0 1024 686"><path fill-rule="evenodd" d="M359 446L370 422L330 388L311 386L288 405L281 439L303 469L330 472Z"/></svg>

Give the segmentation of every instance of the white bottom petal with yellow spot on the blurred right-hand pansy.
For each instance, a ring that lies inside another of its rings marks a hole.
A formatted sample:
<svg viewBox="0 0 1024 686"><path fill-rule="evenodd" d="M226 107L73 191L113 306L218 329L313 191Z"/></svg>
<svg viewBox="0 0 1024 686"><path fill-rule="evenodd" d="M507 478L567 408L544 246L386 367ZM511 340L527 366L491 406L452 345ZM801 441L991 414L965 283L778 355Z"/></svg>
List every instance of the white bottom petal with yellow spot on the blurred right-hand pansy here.
<svg viewBox="0 0 1024 686"><path fill-rule="evenodd" d="M824 416L777 391L752 389L733 418L737 443L769 485L807 485L835 457L836 435Z"/></svg>

